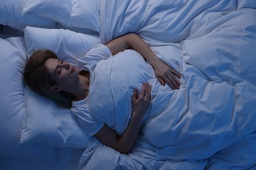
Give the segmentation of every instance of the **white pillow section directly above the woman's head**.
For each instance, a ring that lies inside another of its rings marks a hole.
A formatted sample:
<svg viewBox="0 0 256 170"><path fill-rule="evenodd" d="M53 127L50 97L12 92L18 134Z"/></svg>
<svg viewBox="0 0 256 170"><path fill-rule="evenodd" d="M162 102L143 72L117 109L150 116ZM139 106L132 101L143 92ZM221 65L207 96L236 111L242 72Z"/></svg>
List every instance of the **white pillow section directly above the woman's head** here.
<svg viewBox="0 0 256 170"><path fill-rule="evenodd" d="M24 37L27 46L27 55L35 50L52 50L59 59L70 63L85 54L96 44L100 43L99 37L83 33L75 33L68 29L43 29L26 27Z"/></svg>

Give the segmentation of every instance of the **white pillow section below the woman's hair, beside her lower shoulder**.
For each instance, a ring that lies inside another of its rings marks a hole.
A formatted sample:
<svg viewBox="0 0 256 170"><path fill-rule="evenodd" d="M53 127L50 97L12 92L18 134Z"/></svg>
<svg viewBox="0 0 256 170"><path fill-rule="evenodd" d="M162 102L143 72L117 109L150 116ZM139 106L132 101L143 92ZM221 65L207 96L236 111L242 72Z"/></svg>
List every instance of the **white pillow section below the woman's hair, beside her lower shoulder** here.
<svg viewBox="0 0 256 170"><path fill-rule="evenodd" d="M43 143L55 147L85 148L90 137L81 129L70 109L63 109L51 99L25 90L24 122L20 143Z"/></svg>

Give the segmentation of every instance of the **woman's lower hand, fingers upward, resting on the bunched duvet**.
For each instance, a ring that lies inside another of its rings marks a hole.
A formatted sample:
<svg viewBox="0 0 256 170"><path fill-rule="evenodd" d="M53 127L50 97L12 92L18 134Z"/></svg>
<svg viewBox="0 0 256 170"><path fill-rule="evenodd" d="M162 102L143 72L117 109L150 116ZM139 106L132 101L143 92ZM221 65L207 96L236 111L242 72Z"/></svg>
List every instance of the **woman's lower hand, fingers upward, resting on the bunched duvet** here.
<svg viewBox="0 0 256 170"><path fill-rule="evenodd" d="M140 95L138 90L133 91L133 116L143 118L151 104L151 86L148 83L142 84Z"/></svg>

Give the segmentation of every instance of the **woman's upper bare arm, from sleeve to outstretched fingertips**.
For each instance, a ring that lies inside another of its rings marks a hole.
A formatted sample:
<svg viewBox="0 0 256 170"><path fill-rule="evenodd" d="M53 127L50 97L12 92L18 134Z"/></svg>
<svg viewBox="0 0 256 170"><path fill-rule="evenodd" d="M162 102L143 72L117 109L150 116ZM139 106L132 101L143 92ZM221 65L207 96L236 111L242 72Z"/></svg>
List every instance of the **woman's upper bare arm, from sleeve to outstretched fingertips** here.
<svg viewBox="0 0 256 170"><path fill-rule="evenodd" d="M172 89L179 89L181 83L177 78L181 78L181 75L175 69L163 63L139 35L129 33L110 41L106 46L113 55L132 47L150 63L155 71L156 78L163 86L166 82Z"/></svg>

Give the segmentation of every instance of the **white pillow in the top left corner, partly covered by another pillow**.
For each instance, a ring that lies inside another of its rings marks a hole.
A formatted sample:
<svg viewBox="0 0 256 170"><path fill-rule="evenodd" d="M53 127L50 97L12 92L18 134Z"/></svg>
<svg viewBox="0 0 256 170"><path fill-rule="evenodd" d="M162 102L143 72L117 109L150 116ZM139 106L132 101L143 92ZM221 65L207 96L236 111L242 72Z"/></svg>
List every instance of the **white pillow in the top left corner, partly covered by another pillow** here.
<svg viewBox="0 0 256 170"><path fill-rule="evenodd" d="M46 28L55 27L56 23L52 20L32 14L23 14L22 10L25 3L26 0L1 1L0 24L8 25L20 31L23 31L27 25Z"/></svg>

